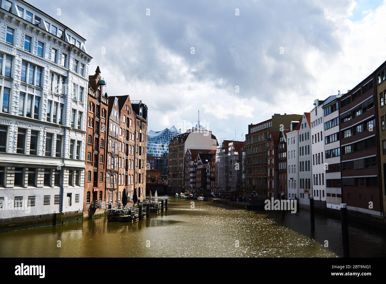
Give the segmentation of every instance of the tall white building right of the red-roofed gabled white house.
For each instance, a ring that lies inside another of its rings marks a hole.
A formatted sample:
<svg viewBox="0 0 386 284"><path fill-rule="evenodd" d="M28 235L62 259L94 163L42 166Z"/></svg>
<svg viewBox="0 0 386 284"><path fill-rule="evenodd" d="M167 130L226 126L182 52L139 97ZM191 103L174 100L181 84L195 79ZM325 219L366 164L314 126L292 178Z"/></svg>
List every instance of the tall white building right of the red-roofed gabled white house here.
<svg viewBox="0 0 386 284"><path fill-rule="evenodd" d="M314 101L311 114L312 184L315 205L326 207L326 179L324 158L323 100Z"/></svg>

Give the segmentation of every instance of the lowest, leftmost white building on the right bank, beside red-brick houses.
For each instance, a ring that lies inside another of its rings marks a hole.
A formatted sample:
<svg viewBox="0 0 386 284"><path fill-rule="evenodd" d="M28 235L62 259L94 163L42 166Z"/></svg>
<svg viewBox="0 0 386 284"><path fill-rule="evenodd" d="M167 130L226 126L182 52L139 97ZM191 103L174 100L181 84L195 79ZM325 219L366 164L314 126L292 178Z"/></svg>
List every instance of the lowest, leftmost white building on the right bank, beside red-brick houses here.
<svg viewBox="0 0 386 284"><path fill-rule="evenodd" d="M299 195L299 171L298 171L298 134L300 121L292 121L290 124L290 131L287 132L287 165L288 165L288 187L287 194L288 198L298 198Z"/></svg>

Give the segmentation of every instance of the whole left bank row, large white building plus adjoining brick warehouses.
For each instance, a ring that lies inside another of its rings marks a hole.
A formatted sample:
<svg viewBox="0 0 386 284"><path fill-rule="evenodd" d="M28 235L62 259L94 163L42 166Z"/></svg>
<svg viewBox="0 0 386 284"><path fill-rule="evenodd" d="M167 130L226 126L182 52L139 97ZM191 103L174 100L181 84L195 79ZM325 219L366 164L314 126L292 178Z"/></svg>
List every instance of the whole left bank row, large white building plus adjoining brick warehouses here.
<svg viewBox="0 0 386 284"><path fill-rule="evenodd" d="M2 0L0 24L0 223L144 196L146 105L103 94L85 39L29 3Z"/></svg>

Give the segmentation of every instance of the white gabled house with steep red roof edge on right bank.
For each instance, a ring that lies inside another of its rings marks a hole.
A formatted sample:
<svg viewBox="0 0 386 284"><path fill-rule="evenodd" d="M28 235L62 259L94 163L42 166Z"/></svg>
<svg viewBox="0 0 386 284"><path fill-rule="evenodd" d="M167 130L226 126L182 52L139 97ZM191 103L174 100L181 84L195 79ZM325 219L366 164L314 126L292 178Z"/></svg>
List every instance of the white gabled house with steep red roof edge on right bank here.
<svg viewBox="0 0 386 284"><path fill-rule="evenodd" d="M311 122L310 113L305 112L299 128L299 202L300 206L310 206L309 195L312 192L311 167Z"/></svg>

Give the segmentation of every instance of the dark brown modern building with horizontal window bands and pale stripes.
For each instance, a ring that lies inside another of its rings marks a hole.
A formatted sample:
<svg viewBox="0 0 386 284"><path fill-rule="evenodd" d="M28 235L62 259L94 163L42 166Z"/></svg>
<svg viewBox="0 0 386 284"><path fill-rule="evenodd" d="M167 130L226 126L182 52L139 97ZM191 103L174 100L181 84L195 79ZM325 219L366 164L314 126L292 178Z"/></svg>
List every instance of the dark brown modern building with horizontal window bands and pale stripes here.
<svg viewBox="0 0 386 284"><path fill-rule="evenodd" d="M384 68L385 65L381 66ZM342 202L359 215L383 215L379 148L377 71L366 77L340 102ZM379 88L379 90L381 87ZM378 99L381 103L381 100ZM382 132L382 117L381 132ZM384 123L383 123L384 124ZM367 213L367 214L365 214ZM383 219L383 216L381 217Z"/></svg>

